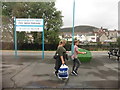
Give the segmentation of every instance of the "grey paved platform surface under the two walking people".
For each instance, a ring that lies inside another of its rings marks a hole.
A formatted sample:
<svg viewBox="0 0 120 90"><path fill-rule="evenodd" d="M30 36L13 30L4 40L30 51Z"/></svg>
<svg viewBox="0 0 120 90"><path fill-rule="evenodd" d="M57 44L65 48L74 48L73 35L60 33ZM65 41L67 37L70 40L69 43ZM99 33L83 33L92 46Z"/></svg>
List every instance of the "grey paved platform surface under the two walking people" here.
<svg viewBox="0 0 120 90"><path fill-rule="evenodd" d="M118 90L120 61L116 61L116 57L109 59L106 51L92 52L91 62L82 63L78 71L79 75L70 75L67 81L59 80L53 73L54 53L45 52L45 59L42 60L41 52L20 51L16 58L13 51L3 51L2 88L5 88L4 90L14 90L13 88L19 88L15 90L63 90L63 88L64 90ZM67 61L67 65L71 72L72 61Z"/></svg>

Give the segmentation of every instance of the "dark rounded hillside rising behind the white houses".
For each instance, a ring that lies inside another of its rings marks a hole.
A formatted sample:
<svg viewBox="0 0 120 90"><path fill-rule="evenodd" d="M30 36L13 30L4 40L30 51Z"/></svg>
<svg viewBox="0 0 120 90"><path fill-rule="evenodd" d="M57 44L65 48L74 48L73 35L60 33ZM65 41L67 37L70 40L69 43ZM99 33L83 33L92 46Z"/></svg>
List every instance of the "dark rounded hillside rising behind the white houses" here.
<svg viewBox="0 0 120 90"><path fill-rule="evenodd" d="M93 32L93 30L98 30L98 29L99 28L93 26L81 25L75 27L75 32ZM72 27L62 28L60 32L72 32Z"/></svg>

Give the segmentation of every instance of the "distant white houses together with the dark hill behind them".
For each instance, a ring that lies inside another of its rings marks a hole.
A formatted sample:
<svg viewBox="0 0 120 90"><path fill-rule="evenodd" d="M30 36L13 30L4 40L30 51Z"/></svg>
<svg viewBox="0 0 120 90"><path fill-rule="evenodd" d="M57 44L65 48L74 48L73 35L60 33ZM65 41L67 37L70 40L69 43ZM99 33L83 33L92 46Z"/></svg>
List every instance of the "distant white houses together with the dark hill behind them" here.
<svg viewBox="0 0 120 90"><path fill-rule="evenodd" d="M74 31L74 38L81 42L116 42L120 36L119 30L107 30L91 26L77 26ZM72 28L63 28L60 31L60 39L72 42Z"/></svg>

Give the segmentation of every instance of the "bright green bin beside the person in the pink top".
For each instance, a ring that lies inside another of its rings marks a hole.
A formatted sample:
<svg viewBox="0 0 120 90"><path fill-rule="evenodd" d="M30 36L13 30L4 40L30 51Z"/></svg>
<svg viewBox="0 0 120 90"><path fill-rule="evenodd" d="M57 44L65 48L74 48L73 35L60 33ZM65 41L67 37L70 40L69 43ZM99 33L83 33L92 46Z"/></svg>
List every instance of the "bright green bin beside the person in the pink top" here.
<svg viewBox="0 0 120 90"><path fill-rule="evenodd" d="M78 54L78 58L81 62L90 62L92 59L92 54L90 51L85 49L78 49L80 52L86 52L86 54Z"/></svg>

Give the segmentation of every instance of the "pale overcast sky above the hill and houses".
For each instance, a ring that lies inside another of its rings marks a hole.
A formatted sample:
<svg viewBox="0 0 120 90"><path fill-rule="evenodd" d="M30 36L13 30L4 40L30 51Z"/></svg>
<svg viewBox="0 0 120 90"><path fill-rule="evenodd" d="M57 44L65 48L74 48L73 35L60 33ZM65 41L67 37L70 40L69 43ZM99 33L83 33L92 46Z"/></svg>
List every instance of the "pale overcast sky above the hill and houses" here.
<svg viewBox="0 0 120 90"><path fill-rule="evenodd" d="M109 30L118 29L118 2L120 0L75 0L75 26L91 25ZM62 11L63 27L72 27L73 0L56 0Z"/></svg>

